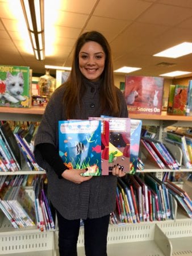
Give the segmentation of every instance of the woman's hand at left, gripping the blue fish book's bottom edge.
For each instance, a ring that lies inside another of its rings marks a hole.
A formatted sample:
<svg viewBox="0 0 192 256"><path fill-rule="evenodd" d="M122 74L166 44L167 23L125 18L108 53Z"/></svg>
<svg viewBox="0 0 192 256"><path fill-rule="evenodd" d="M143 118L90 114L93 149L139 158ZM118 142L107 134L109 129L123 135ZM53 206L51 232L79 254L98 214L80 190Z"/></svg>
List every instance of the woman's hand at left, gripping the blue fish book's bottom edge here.
<svg viewBox="0 0 192 256"><path fill-rule="evenodd" d="M81 184L84 181L90 180L93 176L81 176L81 174L84 174L87 170L85 169L70 169L65 170L61 176L64 177L64 179L72 181L76 184Z"/></svg>

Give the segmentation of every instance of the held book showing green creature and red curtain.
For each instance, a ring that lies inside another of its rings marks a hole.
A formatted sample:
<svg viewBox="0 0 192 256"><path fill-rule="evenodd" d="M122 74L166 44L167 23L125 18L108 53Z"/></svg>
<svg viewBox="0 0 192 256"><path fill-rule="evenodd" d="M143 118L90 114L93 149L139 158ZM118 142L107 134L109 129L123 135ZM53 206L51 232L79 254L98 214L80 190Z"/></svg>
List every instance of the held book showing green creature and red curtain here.
<svg viewBox="0 0 192 256"><path fill-rule="evenodd" d="M119 164L124 172L130 172L130 118L102 115L101 119L109 122L108 171L112 171L114 165Z"/></svg>

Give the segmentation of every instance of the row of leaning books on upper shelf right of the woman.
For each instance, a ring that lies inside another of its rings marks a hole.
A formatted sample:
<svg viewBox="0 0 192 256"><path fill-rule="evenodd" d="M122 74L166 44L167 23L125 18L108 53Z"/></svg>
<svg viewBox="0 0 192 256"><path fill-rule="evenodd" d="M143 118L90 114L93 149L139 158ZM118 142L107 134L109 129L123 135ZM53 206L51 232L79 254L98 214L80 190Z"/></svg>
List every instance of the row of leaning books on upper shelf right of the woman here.
<svg viewBox="0 0 192 256"><path fill-rule="evenodd" d="M172 130L174 129L174 130ZM141 134L140 148L143 157L155 162L158 168L181 170L183 167L192 168L192 135L184 133L183 129L176 131L176 127L167 127L163 141L153 139L149 133ZM147 137L145 137L147 134Z"/></svg>

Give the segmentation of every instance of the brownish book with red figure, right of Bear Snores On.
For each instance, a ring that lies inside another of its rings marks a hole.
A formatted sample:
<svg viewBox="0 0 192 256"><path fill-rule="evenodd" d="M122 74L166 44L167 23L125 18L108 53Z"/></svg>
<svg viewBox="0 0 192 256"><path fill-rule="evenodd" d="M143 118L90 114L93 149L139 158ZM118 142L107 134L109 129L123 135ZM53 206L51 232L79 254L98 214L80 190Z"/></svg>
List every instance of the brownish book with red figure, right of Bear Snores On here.
<svg viewBox="0 0 192 256"><path fill-rule="evenodd" d="M185 115L187 104L187 86L170 85L168 97L168 113Z"/></svg>

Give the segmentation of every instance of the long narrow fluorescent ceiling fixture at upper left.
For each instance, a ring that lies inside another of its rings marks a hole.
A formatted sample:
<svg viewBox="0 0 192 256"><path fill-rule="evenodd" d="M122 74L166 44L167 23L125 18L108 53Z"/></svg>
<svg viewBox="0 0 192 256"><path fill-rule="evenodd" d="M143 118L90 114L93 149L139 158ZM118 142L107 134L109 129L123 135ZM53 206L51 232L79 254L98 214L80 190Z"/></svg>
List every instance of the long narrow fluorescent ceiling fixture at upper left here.
<svg viewBox="0 0 192 256"><path fill-rule="evenodd" d="M20 0L37 60L45 59L44 0Z"/></svg>

